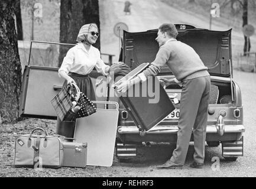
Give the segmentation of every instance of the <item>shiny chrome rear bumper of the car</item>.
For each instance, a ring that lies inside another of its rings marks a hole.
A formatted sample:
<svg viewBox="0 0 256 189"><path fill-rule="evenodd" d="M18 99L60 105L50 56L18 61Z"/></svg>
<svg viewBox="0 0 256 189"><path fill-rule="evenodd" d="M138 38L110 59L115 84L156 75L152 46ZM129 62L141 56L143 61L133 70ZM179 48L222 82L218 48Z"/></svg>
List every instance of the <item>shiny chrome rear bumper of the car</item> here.
<svg viewBox="0 0 256 189"><path fill-rule="evenodd" d="M139 134L140 131L136 126L118 126L117 129L119 134ZM145 133L150 134L170 134L177 133L179 128L177 126L154 126L150 131L146 131ZM225 133L242 133L245 132L244 125L225 125L224 129ZM208 125L206 128L206 133L218 133L215 125Z"/></svg>

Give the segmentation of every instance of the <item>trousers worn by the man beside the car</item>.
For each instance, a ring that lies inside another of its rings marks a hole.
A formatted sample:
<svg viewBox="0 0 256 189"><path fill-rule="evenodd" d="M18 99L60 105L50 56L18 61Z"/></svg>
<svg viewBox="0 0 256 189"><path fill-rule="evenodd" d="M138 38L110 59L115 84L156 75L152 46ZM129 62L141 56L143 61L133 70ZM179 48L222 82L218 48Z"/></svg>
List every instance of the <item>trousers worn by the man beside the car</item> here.
<svg viewBox="0 0 256 189"><path fill-rule="evenodd" d="M203 163L205 159L205 139L210 96L210 76L197 77L182 82L180 98L180 118L177 145L171 162L183 165L189 148L190 137L194 135L194 161Z"/></svg>

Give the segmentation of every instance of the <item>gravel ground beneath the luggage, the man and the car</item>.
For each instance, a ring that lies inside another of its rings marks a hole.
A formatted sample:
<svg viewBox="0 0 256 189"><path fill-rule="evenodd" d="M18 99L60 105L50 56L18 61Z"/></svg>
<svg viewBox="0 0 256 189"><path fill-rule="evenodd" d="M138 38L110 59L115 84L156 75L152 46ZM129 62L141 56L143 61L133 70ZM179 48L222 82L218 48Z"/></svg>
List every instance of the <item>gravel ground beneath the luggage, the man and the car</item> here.
<svg viewBox="0 0 256 189"><path fill-rule="evenodd" d="M220 145L214 148L206 147L205 167L202 170L190 168L189 164L193 160L193 145L191 145L183 170L156 170L155 165L162 164L170 158L174 149L174 146L166 145L139 148L140 158L126 162L118 162L114 157L112 167L62 167L58 170L44 168L43 171L14 168L14 142L18 136L29 133L36 127L44 128L49 135L56 136L55 120L25 119L14 125L0 125L0 177L255 177L256 87L252 86L252 81L256 81L256 74L235 70L234 79L241 87L246 127L244 157L239 157L235 162L225 161L221 157ZM220 159L219 170L212 169L213 157Z"/></svg>

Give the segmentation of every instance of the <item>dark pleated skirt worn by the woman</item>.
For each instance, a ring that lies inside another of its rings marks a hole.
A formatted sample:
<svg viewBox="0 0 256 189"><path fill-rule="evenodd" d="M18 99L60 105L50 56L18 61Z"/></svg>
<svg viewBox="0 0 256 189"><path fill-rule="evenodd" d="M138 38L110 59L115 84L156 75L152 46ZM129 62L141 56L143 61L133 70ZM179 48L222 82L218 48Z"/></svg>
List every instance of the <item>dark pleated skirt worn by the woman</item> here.
<svg viewBox="0 0 256 189"><path fill-rule="evenodd" d="M84 93L90 100L96 100L92 80L90 79L89 75L69 73L69 76L72 77L72 79L74 79L74 82L76 82L77 86L80 89L80 92ZM67 87L67 80L65 80L65 82L63 83L63 87ZM75 122L61 122L60 118L58 117L56 133L58 135L66 136L67 138L73 138L75 125Z"/></svg>

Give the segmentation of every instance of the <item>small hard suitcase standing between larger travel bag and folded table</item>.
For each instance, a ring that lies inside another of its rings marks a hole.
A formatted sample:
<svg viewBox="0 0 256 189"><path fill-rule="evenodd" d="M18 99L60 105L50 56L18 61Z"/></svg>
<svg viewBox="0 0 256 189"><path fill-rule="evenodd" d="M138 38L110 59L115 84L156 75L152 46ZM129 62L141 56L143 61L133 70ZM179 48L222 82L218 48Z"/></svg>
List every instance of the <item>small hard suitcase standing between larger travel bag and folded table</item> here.
<svg viewBox="0 0 256 189"><path fill-rule="evenodd" d="M86 167L87 142L65 142L63 141L63 166L64 167Z"/></svg>

